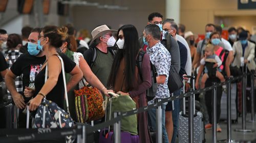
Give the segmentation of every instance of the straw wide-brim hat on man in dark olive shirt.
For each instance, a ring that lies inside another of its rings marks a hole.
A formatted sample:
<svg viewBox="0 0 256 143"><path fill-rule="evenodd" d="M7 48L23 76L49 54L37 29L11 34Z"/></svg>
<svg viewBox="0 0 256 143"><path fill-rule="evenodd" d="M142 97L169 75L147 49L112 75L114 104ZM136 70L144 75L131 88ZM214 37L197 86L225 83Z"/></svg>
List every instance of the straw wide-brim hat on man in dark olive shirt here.
<svg viewBox="0 0 256 143"><path fill-rule="evenodd" d="M100 25L98 27L96 27L93 31L92 31L92 41L90 42L89 46L92 45L92 43L94 42L94 40L96 40L97 38L99 38L100 36L107 34L107 33L113 33L113 32L117 32L117 30L111 30L107 25Z"/></svg>

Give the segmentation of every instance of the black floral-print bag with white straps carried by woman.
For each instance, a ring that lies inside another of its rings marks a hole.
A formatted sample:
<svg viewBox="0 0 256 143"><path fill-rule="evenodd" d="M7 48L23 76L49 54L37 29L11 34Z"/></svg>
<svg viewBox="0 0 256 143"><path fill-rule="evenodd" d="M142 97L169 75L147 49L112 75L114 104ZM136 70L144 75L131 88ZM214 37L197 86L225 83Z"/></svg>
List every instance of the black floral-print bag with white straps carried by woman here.
<svg viewBox="0 0 256 143"><path fill-rule="evenodd" d="M61 70L65 71L63 60L59 55L57 56L61 63ZM62 77L63 77L63 82L66 83L65 72L62 72ZM46 65L45 82L47 78L48 78L48 64ZM61 109L56 103L44 98L36 111L33 128L74 127L74 122L70 117L70 112L69 112L69 101L68 101L66 84L64 84L64 89L65 89L65 99L67 104L67 112Z"/></svg>

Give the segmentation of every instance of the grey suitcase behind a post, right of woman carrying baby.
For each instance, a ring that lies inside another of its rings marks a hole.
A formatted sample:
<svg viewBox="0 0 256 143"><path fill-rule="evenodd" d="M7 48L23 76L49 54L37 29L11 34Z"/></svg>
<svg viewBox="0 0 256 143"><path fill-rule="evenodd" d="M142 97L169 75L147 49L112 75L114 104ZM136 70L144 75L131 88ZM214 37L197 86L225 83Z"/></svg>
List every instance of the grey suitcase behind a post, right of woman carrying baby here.
<svg viewBox="0 0 256 143"><path fill-rule="evenodd" d="M231 121L232 123L238 122L238 114L237 114L237 83L231 83ZM221 97L221 120L227 119L227 94L225 92L222 93Z"/></svg>

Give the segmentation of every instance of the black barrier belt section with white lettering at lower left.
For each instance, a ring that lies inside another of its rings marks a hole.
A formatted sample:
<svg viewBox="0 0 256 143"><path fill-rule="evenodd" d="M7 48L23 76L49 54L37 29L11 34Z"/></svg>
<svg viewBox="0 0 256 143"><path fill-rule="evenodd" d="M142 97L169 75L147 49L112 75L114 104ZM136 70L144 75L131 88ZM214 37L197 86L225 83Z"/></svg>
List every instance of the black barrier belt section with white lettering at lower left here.
<svg viewBox="0 0 256 143"><path fill-rule="evenodd" d="M16 129L19 130L19 129ZM76 136L77 134L82 134L81 129L77 128L62 128L61 130L52 130L50 128L45 128L45 133L38 133L34 130L34 133L23 134L23 135L8 135L0 137L1 142L31 142L40 140L56 140L64 138L68 135ZM20 130L19 130L20 131Z"/></svg>

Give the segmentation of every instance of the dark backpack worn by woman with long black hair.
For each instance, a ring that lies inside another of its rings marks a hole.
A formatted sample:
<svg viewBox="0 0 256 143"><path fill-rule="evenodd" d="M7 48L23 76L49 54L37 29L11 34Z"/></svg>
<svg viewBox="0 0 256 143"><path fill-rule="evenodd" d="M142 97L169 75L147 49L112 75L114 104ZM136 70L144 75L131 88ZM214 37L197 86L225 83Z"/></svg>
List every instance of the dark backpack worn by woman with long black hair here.
<svg viewBox="0 0 256 143"><path fill-rule="evenodd" d="M142 69L142 61L145 53L146 52L144 52L143 50L140 50L139 55L137 56L137 59L136 59L136 65L138 67L138 71L141 79L143 79L141 69ZM157 78L156 78L157 70L156 70L156 67L151 62L150 62L150 65L151 65L152 85L149 89L146 90L147 101L154 99L157 93Z"/></svg>

